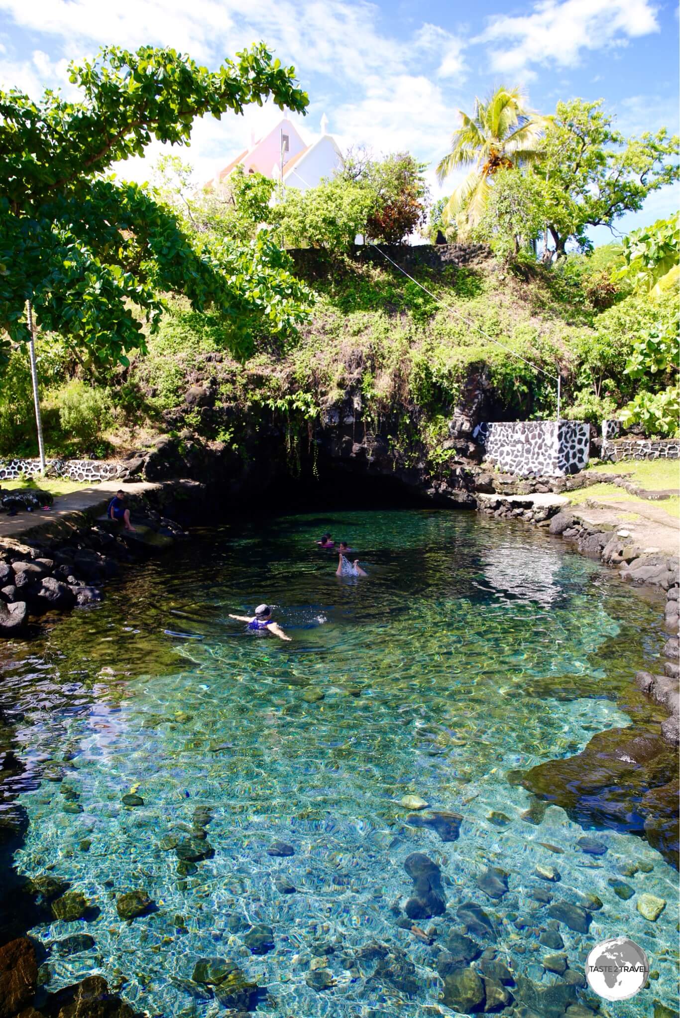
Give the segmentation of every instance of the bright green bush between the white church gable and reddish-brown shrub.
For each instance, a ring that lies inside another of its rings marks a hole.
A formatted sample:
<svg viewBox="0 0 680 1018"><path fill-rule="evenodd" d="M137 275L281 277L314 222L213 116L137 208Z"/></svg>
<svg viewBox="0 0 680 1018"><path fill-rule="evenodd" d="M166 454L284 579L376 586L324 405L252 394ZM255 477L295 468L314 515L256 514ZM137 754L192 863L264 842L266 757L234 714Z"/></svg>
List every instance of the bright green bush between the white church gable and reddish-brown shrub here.
<svg viewBox="0 0 680 1018"><path fill-rule="evenodd" d="M287 188L274 216L287 246L340 253L352 247L357 233L363 233L374 204L375 195L363 184L336 177L305 191Z"/></svg>

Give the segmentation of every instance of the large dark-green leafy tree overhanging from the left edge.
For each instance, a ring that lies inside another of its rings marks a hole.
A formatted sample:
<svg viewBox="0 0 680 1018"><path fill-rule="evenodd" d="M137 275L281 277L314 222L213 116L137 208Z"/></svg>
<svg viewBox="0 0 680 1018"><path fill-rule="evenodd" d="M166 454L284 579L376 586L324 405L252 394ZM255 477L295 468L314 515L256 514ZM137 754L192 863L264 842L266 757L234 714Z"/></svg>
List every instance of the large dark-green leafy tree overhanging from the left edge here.
<svg viewBox="0 0 680 1018"><path fill-rule="evenodd" d="M71 64L70 80L78 102L0 92L0 330L25 344L30 301L37 324L76 356L126 363L145 348L145 321L157 328L163 291L219 309L240 356L259 330L293 328L305 291L269 236L202 243L169 206L106 172L154 138L188 145L196 117L241 113L267 97L304 112L294 68L263 44L216 71L172 49L111 47Z"/></svg>

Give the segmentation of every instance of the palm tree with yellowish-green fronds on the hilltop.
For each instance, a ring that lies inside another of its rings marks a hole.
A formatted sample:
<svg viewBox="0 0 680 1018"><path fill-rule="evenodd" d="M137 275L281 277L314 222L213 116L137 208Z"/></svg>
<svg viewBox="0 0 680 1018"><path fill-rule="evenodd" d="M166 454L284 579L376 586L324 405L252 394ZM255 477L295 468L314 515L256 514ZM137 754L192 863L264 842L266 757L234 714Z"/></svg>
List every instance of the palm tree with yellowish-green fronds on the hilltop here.
<svg viewBox="0 0 680 1018"><path fill-rule="evenodd" d="M459 166L476 164L456 187L444 218L459 229L478 223L491 178L500 169L520 168L539 158L541 138L552 122L528 110L519 89L500 86L486 102L474 100L474 115L459 110L461 126L451 137L451 151L437 167L440 182Z"/></svg>

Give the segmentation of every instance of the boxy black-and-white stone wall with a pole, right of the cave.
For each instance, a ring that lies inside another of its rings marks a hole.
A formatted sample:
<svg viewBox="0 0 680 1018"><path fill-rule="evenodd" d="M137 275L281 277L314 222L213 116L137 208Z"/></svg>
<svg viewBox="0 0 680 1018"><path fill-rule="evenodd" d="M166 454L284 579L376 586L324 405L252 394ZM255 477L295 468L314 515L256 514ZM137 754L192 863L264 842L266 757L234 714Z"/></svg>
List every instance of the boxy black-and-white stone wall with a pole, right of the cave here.
<svg viewBox="0 0 680 1018"><path fill-rule="evenodd" d="M487 461L520 477L577 473L588 461L589 427L579 420L490 421L473 437Z"/></svg>

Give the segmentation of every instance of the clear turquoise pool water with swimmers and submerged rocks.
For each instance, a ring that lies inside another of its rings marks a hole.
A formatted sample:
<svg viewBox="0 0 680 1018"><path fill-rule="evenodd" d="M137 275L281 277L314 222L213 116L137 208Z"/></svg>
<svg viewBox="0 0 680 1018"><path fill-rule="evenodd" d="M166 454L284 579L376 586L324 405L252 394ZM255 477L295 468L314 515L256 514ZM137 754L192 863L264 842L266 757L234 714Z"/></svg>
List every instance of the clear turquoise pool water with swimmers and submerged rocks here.
<svg viewBox="0 0 680 1018"><path fill-rule="evenodd" d="M334 575L335 557L314 545L325 529L360 550L369 578ZM264 600L291 643L227 618ZM660 973L616 1015L672 1004L675 871L615 831L597 833L606 855L584 855L578 825L555 806L527 823L530 797L505 778L630 723L618 693L658 652L660 621L658 606L545 533L445 511L234 523L140 567L101 606L16 647L5 670L23 710L22 756L37 777L57 779L21 796L31 826L16 866L67 879L100 909L88 922L33 929L46 944L75 931L96 941L49 960L50 988L101 971L151 1015L212 1015L218 1005L193 999L185 980L197 958L221 956L267 987L259 1013L452 1014L438 1004L437 944L460 929L462 901L495 918L499 958L542 985L555 979L536 935L514 925L518 914L545 923L526 897L543 863L562 873L556 899L594 892L605 903L587 936L561 927L572 967L598 941L625 934ZM310 701L316 692L323 698ZM144 806L121 803L130 791ZM408 824L405 794L459 812L458 840ZM65 812L73 801L82 811ZM203 805L215 854L180 875L160 842L185 837ZM270 857L275 840L295 854ZM420 923L437 927L434 946L396 924L414 851L443 872L447 914ZM629 880L636 892L669 902L654 924L636 897L620 901L608 884L631 860L650 865ZM500 901L475 885L489 864L510 873ZM297 893L281 894L277 874ZM123 922L115 898L135 888L156 910ZM274 930L264 956L244 943L254 923ZM412 984L372 980L375 963L348 961L372 940L415 966ZM329 944L335 981L318 992L305 976Z"/></svg>

